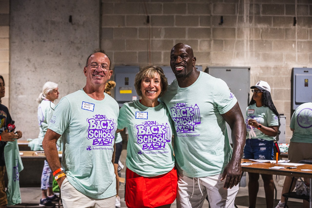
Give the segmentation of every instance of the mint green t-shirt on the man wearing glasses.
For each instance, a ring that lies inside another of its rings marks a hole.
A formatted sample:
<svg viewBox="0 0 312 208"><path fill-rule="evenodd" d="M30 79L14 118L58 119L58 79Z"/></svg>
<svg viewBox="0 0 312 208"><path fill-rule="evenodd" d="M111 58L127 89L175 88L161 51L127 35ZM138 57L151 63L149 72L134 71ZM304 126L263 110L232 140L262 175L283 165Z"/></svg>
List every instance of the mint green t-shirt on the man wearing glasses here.
<svg viewBox="0 0 312 208"><path fill-rule="evenodd" d="M80 89L56 105L49 129L62 135L62 167L70 184L86 196L116 195L112 155L119 106L105 93L95 100Z"/></svg>

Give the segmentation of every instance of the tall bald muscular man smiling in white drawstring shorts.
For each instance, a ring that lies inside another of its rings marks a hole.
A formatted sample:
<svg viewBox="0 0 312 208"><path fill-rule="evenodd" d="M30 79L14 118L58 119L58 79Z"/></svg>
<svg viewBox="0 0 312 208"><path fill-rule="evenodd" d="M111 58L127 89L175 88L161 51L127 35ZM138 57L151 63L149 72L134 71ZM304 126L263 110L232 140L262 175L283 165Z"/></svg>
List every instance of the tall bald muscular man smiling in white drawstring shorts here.
<svg viewBox="0 0 312 208"><path fill-rule="evenodd" d="M193 49L173 46L170 66L176 79L160 98L175 124L174 153L178 169L177 207L234 207L241 180L246 128L227 84L197 71ZM226 122L232 130L233 151Z"/></svg>

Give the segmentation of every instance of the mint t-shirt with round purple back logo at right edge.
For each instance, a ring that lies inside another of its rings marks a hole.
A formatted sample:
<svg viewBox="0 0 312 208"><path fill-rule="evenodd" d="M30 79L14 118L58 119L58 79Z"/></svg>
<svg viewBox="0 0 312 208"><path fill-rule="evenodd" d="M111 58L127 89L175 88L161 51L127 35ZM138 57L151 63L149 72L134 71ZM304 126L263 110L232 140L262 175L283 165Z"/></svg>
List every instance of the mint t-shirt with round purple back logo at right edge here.
<svg viewBox="0 0 312 208"><path fill-rule="evenodd" d="M291 142L312 143L312 103L299 105L290 119Z"/></svg>

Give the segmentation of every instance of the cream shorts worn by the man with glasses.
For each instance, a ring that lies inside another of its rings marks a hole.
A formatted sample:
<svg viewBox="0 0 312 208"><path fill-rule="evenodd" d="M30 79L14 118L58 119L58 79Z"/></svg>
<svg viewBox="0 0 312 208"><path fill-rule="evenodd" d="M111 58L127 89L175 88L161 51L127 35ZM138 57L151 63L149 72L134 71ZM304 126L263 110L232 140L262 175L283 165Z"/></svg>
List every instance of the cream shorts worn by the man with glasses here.
<svg viewBox="0 0 312 208"><path fill-rule="evenodd" d="M115 208L116 204L116 196L106 199L94 199L89 196L85 196L81 192L77 191L74 186L69 183L67 178L64 179L61 185L61 198L64 208Z"/></svg>

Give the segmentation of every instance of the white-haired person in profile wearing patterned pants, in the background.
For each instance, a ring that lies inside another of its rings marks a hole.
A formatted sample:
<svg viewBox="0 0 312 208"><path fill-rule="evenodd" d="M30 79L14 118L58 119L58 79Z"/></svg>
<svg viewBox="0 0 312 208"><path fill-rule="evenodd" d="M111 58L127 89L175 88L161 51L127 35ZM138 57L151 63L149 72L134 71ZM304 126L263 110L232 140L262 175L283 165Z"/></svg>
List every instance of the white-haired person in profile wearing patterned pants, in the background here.
<svg viewBox="0 0 312 208"><path fill-rule="evenodd" d="M43 150L42 141L55 109L55 104L53 102L58 99L59 94L58 85L54 82L46 82L42 87L42 92L37 99L37 102L40 103L38 106L38 124L40 132L37 140L38 145L34 146L34 151ZM45 160L41 174L42 197L39 206L55 207L52 201L58 201L58 196L56 196L52 190L52 179L51 168Z"/></svg>

